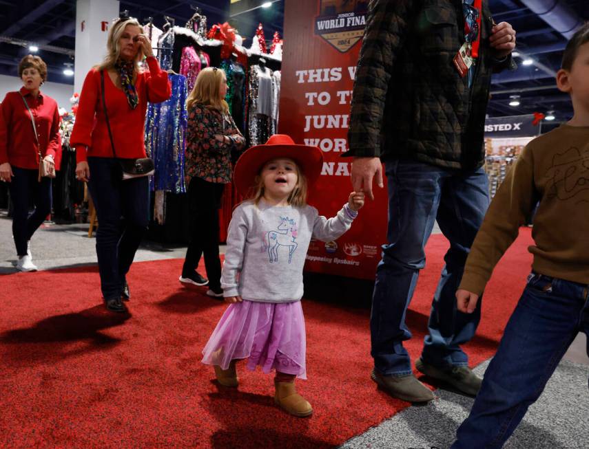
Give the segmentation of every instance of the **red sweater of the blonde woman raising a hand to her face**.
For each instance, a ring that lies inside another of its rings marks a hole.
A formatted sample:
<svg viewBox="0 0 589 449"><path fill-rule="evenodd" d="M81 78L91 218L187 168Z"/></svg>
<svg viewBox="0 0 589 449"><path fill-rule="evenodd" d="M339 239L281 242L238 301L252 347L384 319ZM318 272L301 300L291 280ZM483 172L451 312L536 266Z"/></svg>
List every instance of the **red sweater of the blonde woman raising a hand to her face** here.
<svg viewBox="0 0 589 449"><path fill-rule="evenodd" d="M167 72L160 68L156 58L150 57L146 61L149 72L141 72L136 76L139 104L135 109L131 109L127 96L112 83L107 72L104 74L108 121L116 157L145 157L147 102L163 102L172 95ZM70 138L70 145L76 149L77 162L85 161L87 156L114 157L102 107L100 78L98 70L90 70L80 94L76 122Z"/></svg>

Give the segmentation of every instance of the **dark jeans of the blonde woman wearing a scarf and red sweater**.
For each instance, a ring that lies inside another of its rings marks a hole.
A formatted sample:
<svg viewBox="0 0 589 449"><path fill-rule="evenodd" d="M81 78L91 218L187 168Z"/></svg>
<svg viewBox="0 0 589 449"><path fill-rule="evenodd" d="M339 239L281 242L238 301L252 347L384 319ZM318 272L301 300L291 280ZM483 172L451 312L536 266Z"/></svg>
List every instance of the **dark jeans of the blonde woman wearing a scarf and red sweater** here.
<svg viewBox="0 0 589 449"><path fill-rule="evenodd" d="M121 179L110 157L88 157L88 189L96 208L96 256L105 300L120 298L125 275L149 224L149 178Z"/></svg>

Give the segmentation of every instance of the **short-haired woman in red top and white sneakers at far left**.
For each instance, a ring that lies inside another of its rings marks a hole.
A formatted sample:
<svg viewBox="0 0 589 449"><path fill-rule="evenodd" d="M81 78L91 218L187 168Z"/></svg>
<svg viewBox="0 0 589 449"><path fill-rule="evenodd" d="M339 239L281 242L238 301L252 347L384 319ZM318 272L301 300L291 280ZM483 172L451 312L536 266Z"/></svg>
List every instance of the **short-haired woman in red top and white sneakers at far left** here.
<svg viewBox="0 0 589 449"><path fill-rule="evenodd" d="M0 105L0 180L10 183L17 269L32 272L37 267L32 263L29 241L51 211L51 179L39 180L39 153L54 175L61 139L57 103L39 90L47 78L47 65L39 56L29 54L19 63L19 76L23 87L8 92ZM34 212L29 215L31 199Z"/></svg>

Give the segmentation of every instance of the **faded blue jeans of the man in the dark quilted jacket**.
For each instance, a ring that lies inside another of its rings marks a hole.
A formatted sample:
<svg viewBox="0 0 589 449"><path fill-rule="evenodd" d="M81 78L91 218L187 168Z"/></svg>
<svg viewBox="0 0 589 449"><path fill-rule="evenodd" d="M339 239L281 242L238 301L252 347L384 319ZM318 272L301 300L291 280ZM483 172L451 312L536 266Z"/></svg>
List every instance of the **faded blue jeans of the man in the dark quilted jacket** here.
<svg viewBox="0 0 589 449"><path fill-rule="evenodd" d="M422 357L436 366L467 365L459 345L473 338L480 318L456 309L455 292L466 257L488 207L488 182L482 168L458 172L421 162L386 162L389 182L388 244L382 246L371 312L371 355L383 375L411 374L403 342L411 338L405 324L417 277L425 265L424 246L434 221L450 248L433 298Z"/></svg>

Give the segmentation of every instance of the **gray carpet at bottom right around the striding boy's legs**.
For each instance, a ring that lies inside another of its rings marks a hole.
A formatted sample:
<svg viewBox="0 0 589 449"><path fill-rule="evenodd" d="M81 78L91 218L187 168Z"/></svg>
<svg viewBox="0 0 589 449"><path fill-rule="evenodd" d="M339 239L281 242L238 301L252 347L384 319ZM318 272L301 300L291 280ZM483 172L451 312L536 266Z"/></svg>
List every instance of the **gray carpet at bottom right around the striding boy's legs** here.
<svg viewBox="0 0 589 449"><path fill-rule="evenodd" d="M488 362L477 366L484 373ZM561 362L506 449L589 448L589 366ZM439 399L412 406L340 446L342 449L444 449L468 416L473 399L437 390ZM473 448L475 449L475 448Z"/></svg>

